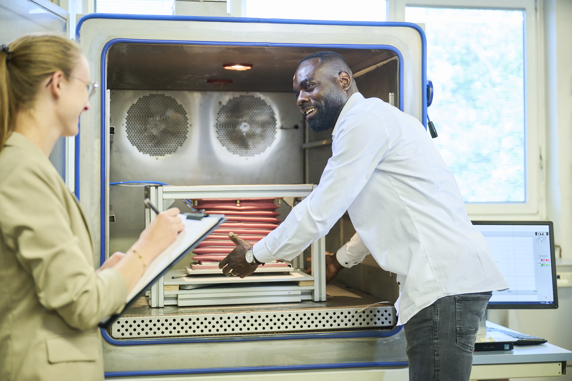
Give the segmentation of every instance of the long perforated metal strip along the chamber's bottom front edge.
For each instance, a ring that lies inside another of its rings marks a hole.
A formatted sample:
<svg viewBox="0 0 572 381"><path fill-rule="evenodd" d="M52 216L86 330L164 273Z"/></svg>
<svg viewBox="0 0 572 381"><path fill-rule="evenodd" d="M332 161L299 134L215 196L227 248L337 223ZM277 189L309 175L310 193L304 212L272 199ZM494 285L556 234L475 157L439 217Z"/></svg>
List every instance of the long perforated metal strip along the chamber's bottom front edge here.
<svg viewBox="0 0 572 381"><path fill-rule="evenodd" d="M116 339L164 336L332 331L385 328L395 325L395 307L275 311L249 314L196 314L119 318L111 327Z"/></svg>

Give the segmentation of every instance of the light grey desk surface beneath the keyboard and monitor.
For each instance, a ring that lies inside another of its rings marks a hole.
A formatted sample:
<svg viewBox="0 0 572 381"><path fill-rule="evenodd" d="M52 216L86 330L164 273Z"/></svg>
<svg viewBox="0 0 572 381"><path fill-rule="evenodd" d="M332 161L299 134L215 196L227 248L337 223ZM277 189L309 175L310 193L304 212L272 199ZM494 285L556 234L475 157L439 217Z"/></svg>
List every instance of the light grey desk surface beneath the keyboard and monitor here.
<svg viewBox="0 0 572 381"><path fill-rule="evenodd" d="M487 321L487 327L513 331L509 328ZM556 361L572 361L572 352L550 343L531 346L514 346L512 351L474 352L472 363L476 364L510 364L510 363L542 363Z"/></svg>

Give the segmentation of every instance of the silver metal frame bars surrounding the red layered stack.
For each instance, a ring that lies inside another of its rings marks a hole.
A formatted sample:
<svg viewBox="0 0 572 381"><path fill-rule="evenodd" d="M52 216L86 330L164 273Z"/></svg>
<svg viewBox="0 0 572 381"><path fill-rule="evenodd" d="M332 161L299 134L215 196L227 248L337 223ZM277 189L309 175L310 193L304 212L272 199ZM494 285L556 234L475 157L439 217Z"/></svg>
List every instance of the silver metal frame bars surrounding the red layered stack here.
<svg viewBox="0 0 572 381"><path fill-rule="evenodd" d="M158 211L164 211L176 199L248 199L248 198L304 198L316 185L198 185L198 186L149 186L145 188L148 196ZM156 217L155 212L145 208L145 226ZM300 253L301 254L301 253ZM325 302L325 237L311 244L314 302ZM292 266L303 268L302 255L292 260ZM161 277L153 284L150 291L150 307L164 307L164 279Z"/></svg>

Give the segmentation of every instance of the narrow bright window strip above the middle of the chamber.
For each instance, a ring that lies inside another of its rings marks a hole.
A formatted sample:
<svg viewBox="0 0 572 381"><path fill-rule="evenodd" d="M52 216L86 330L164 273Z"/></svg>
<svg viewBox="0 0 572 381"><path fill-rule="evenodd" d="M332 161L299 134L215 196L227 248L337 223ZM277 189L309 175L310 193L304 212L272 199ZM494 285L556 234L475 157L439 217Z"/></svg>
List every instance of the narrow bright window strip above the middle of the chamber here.
<svg viewBox="0 0 572 381"><path fill-rule="evenodd" d="M367 11L364 11L367 10ZM385 0L246 0L247 17L386 21Z"/></svg>

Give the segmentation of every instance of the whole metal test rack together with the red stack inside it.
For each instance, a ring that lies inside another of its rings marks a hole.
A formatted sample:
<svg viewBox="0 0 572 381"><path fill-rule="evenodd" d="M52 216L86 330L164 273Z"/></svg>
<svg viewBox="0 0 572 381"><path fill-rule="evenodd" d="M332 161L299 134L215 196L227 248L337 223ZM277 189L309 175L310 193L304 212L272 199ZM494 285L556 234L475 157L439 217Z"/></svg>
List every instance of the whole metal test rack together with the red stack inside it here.
<svg viewBox="0 0 572 381"><path fill-rule="evenodd" d="M235 214L237 210L239 211L256 211L256 215L250 216L258 216L258 217L270 217L270 218L280 218L283 219L285 214L288 214L288 211L291 209L293 204L296 203L297 199L307 197L313 189L315 189L315 185L311 184L293 184L293 185L216 185L216 186L157 186L157 187L149 187L146 189L146 196L148 196L153 203L162 206L163 208L167 208L170 204L173 203L173 200L190 200L194 203L195 206L199 206L200 208L204 208L210 212L219 212L223 213L226 211L228 216L232 217L248 217L249 215L240 214L240 215L232 215ZM211 201L210 203L205 202L206 200ZM236 200L240 200L236 202ZM275 203L274 200L277 200ZM256 208L257 205L250 205L248 203L263 203L263 207ZM199 204L200 203L200 204ZM236 208L237 203L241 208ZM198 204L198 205L197 205ZM223 207L221 205L216 206L216 204L224 204ZM280 204L280 208L278 207ZM234 206L234 208L229 208ZM249 206L249 208L246 208ZM252 208L254 206L255 208ZM250 210L248 210L250 209ZM258 210L256 210L258 209ZM262 213L260 213L262 212ZM268 213L270 212L270 213ZM277 213L280 212L280 215ZM150 209L145 209L145 221L146 223L150 223L154 218L154 214ZM205 244L203 243L202 247L210 247L210 248L224 248L224 246L220 245L221 242L219 241L227 241L229 244L231 241L227 238L228 232L233 231L235 234L239 236L243 236L243 238L247 238L247 242L254 243L260 242L260 239L264 238L269 232L276 228L278 225L276 220L258 220L258 221L227 221L227 216L225 216L225 222L227 223L244 223L247 224L246 226L237 226L231 225L230 227L228 224L225 226L220 226L219 230L216 232L212 232L209 234L208 241L217 241L217 245L215 244ZM248 223L263 223L263 226L258 226L255 228L252 224ZM275 226L269 226L275 225ZM263 227L263 228L260 228ZM246 231L244 231L246 230ZM247 233L247 234L245 234ZM206 237L205 237L206 238ZM214 243L214 242L213 242ZM289 267L267 267L265 266L258 266L257 271L253 274L246 276L245 278L239 278L239 276L230 276L224 275L219 268L207 268L205 270L193 270L192 267L189 266L189 263L185 263L188 267L185 270L173 270L173 273L165 274L161 276L160 279L157 280L153 287L149 291L149 306L154 307L164 307L164 306L173 306L173 308L180 308L183 304L192 302L193 305L196 306L213 306L218 304L210 304L217 302L218 299L220 300L219 296L223 298L227 298L225 300L225 304L221 304L223 308L227 304L232 304L235 306L240 306L240 304L252 304L253 302L247 302L247 299L253 300L261 296L259 300L259 306L267 304L267 302L263 302L263 295L260 294L247 294L247 292L256 293L256 287L272 287L276 285L276 288L273 289L275 292L276 300L272 300L269 303L281 303L278 302L278 295L281 292L284 292L285 295L290 298L292 295L295 295L295 299L305 301L305 300L313 300L314 302L324 302L326 300L325 294L325 266L324 266L324 258L325 258L325 238L321 237L320 239L316 240L311 244L311 258L312 258L312 265L311 265L311 275L305 274L304 272L304 264L305 262L303 256L300 255L296 256L292 260L292 264L289 264ZM202 248L201 247L201 248ZM230 246L232 248L232 246ZM196 247L198 249L199 247ZM221 255L226 255L225 252L221 253L220 251L214 252L209 248L210 255L219 255L219 260ZM226 247L228 250L228 246ZM309 247L310 248L310 247ZM209 255L207 252L206 255ZM200 252L195 252L190 256L198 256L203 255ZM256 251L255 251L256 255ZM189 258L190 259L190 258ZM215 260L215 258L207 258L211 260ZM212 262L212 266L216 266L217 260ZM206 263L206 262L201 262ZM196 260L192 260L191 264L198 264ZM283 264L284 266L284 264ZM217 266L216 266L217 267ZM264 270L264 272L260 272ZM276 271L278 270L278 271ZM301 271L300 271L301 270ZM273 272L276 271L276 272ZM268 284L272 283L272 284ZM228 287L224 286L228 285ZM251 290L243 290L240 286L244 287L252 287ZM219 287L221 286L221 287ZM223 287L224 286L224 287ZM287 286L289 289L286 289L284 286ZM225 294L223 288L228 289L228 293ZM280 288L279 288L280 287ZM292 287L292 288L290 288ZM212 288L212 292L206 292L208 288ZM291 291L300 291L300 296L297 296L297 292ZM288 292L290 292L288 294ZM199 295L202 294L202 295ZM208 294L208 295L206 295ZM233 298L237 296L237 298ZM253 298L246 298L246 296L253 296ZM281 296L280 296L281 297ZM194 301L191 299L197 300L201 299L201 304L194 304ZM234 304L236 302L236 304ZM290 300L288 300L290 302ZM286 304L291 304L291 303ZM190 308L184 307L184 308Z"/></svg>

